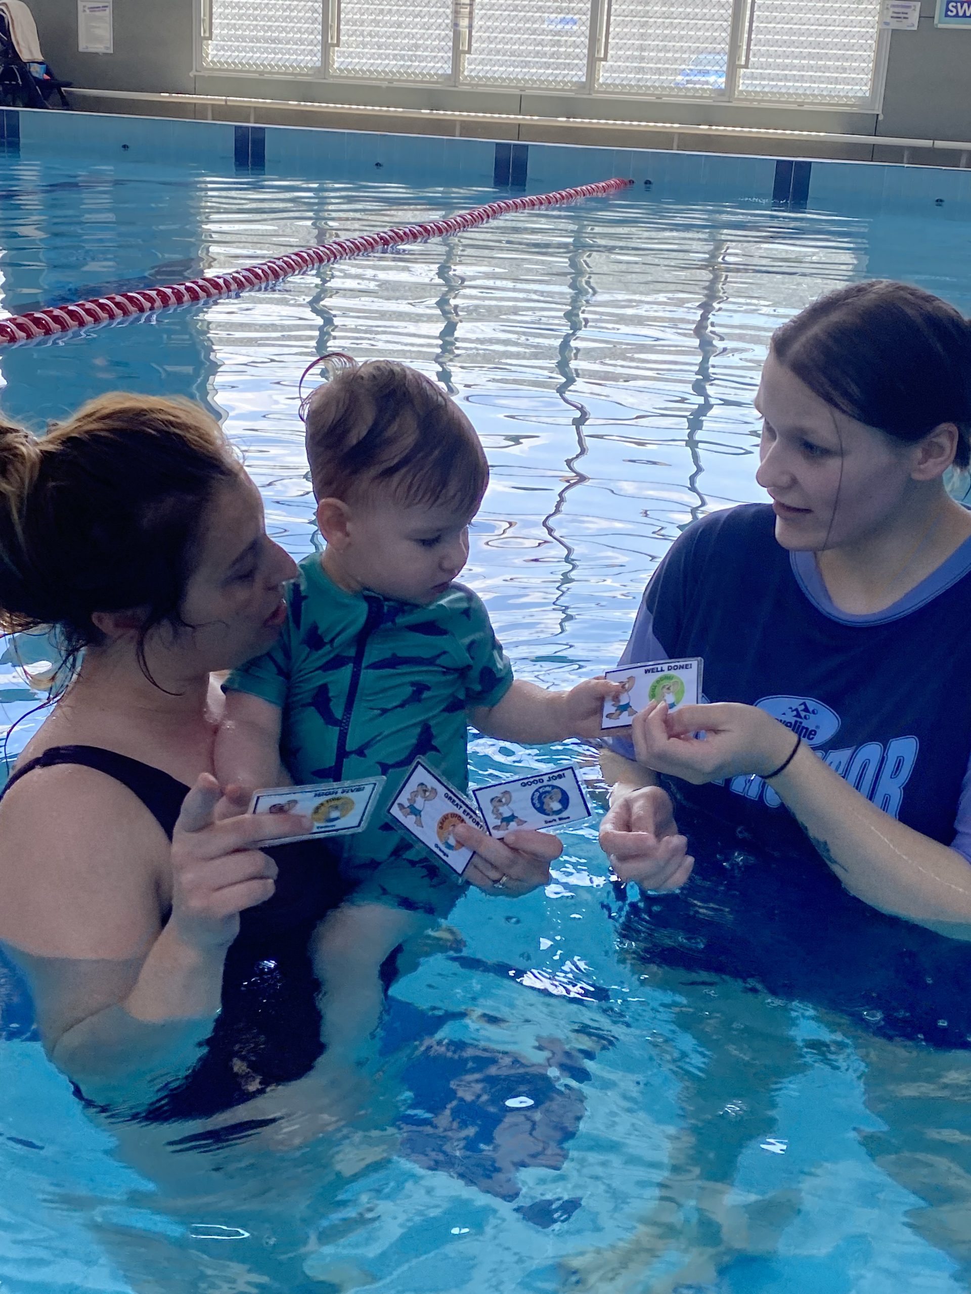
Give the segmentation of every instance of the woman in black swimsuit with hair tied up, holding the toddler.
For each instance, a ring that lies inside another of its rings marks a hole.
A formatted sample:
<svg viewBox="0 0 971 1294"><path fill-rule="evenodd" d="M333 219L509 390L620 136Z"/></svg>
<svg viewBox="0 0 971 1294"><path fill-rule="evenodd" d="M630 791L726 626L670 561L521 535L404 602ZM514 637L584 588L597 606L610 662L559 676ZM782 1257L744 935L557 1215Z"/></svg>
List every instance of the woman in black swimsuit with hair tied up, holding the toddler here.
<svg viewBox="0 0 971 1294"><path fill-rule="evenodd" d="M80 661L3 793L0 941L95 1099L208 1114L320 1055L307 947L337 866L320 842L264 851L309 823L245 814L212 776L212 672L273 643L294 575L202 410L106 396L41 440L0 426L3 628L52 625ZM513 895L559 849L475 845L473 884Z"/></svg>

